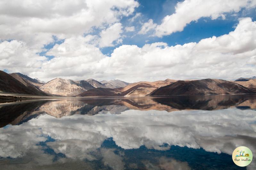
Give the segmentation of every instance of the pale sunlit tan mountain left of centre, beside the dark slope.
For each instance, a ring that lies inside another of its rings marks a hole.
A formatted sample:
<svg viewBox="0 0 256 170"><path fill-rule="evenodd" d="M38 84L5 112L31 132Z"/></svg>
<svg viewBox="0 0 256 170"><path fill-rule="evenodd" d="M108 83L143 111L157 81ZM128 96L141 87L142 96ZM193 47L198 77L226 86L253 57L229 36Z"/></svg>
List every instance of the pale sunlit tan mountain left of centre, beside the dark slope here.
<svg viewBox="0 0 256 170"><path fill-rule="evenodd" d="M85 82L79 81L77 83L73 80L65 80L63 78L55 78L40 87L46 93L61 96L76 96L91 88L92 86L87 85Z"/></svg>

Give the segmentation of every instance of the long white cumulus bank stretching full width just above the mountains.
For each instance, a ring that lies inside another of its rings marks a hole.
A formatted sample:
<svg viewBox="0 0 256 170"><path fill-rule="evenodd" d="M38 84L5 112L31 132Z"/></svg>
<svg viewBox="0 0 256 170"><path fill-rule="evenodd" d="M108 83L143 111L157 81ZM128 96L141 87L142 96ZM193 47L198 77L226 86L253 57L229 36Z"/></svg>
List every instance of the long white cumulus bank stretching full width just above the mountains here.
<svg viewBox="0 0 256 170"><path fill-rule="evenodd" d="M26 51L26 55L19 55L19 61L24 60L24 63L20 63L21 66L26 66L23 69L24 73L43 80L56 77L75 80L118 78L127 82L166 78L234 79L254 76L255 40L256 22L251 18L241 18L234 31L219 37L213 36L198 43L176 46L168 46L164 42L145 44L143 47L121 45L113 50L110 57L103 55L95 46L99 42L99 37L93 35L71 37L60 45L56 44L46 53L55 56L50 61L34 55L23 43L21 49ZM16 42L20 41L0 43L2 51L6 51L11 47L10 44ZM17 53L1 52L0 69L9 66L10 71L19 71L17 65L12 64L15 55L17 56ZM8 57L13 59L6 59ZM25 64L25 61L28 63Z"/></svg>

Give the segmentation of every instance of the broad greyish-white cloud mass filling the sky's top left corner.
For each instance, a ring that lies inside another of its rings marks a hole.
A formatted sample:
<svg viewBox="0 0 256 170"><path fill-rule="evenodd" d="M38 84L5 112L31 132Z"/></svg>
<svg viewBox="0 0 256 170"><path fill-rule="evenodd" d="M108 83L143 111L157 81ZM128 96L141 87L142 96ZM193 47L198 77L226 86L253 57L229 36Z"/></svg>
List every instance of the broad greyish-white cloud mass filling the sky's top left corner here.
<svg viewBox="0 0 256 170"><path fill-rule="evenodd" d="M3 0L0 2L0 39L24 41L40 52L44 44L70 38L119 22L131 15L134 0ZM99 12L100 11L100 12Z"/></svg>

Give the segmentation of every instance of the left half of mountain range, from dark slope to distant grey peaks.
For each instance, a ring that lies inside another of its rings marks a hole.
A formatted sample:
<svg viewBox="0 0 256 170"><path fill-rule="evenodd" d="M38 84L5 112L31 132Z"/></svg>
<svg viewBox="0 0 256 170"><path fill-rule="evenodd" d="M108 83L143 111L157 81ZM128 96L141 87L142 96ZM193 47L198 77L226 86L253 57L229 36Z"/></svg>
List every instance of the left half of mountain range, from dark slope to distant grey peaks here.
<svg viewBox="0 0 256 170"><path fill-rule="evenodd" d="M1 81L2 80L2 81ZM22 84L22 85L21 85ZM54 96L77 96L87 90L95 88L120 88L129 83L121 80L110 80L99 82L95 79L87 80L66 80L63 78L54 78L44 83L37 78L30 78L21 73L8 74L0 72L0 92L13 92L29 95L54 95Z"/></svg>

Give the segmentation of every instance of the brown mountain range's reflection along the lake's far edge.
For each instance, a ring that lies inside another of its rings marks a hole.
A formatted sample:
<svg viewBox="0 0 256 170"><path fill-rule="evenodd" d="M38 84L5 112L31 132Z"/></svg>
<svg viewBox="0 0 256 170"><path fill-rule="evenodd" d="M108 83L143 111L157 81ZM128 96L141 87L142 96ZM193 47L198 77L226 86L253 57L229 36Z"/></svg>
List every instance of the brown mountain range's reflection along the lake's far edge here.
<svg viewBox="0 0 256 170"><path fill-rule="evenodd" d="M45 113L60 118L74 114L120 114L125 110L172 112L185 109L218 110L229 107L237 107L243 110L256 109L255 101L256 96L254 95L33 100L15 104L2 104L0 106L0 127L7 124L20 124Z"/></svg>

